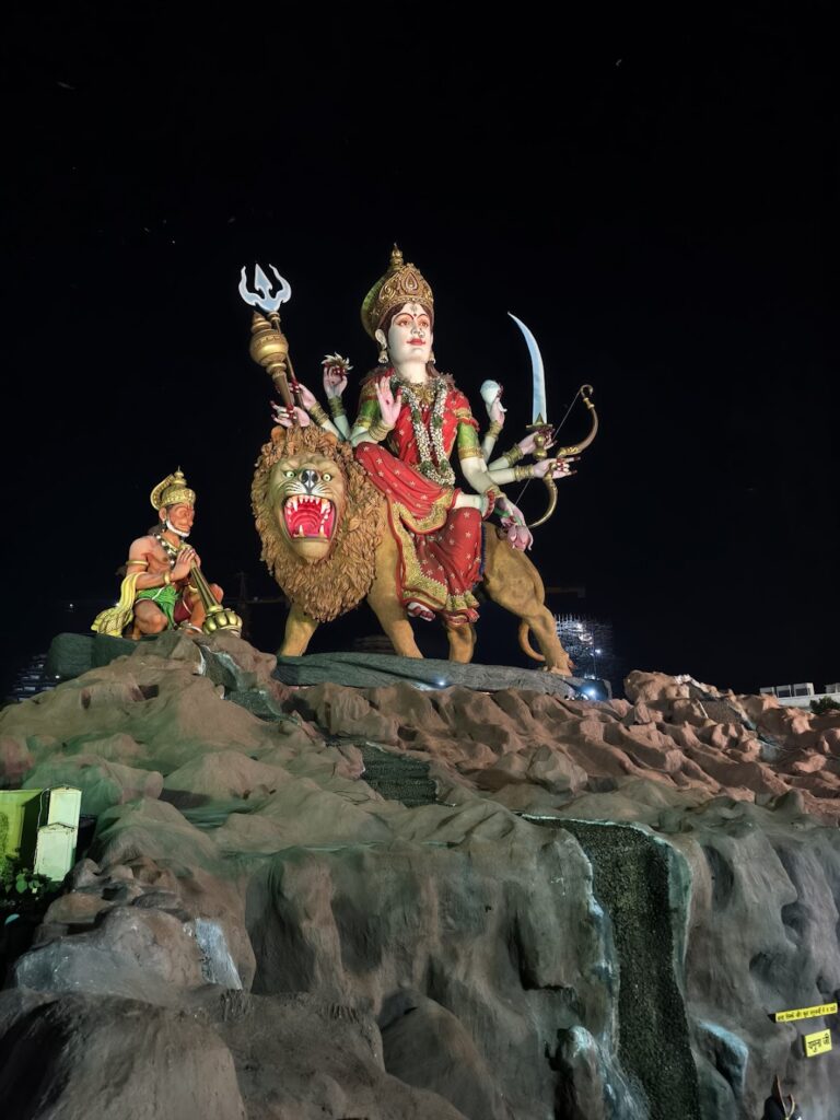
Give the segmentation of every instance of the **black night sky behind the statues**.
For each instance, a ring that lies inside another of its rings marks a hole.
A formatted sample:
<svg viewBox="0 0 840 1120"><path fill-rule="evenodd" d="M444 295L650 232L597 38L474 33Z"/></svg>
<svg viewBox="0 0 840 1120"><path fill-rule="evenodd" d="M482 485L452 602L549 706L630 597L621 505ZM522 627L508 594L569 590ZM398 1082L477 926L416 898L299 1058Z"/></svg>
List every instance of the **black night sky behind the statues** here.
<svg viewBox="0 0 840 1120"><path fill-rule="evenodd" d="M504 384L501 447L531 404L506 311L540 342L551 419L595 385L600 435L532 557L586 586L625 668L840 679L837 43L829 3L784 7L7 25L3 670L87 627L68 601L115 597L179 464L206 572L272 592L250 511L271 392L240 269L291 282L318 389L327 352L375 363L358 307L396 241L435 290L439 367L482 418L482 381ZM578 405L563 442L587 428ZM260 644L281 627L265 607ZM513 619L486 613L476 660L519 663Z"/></svg>

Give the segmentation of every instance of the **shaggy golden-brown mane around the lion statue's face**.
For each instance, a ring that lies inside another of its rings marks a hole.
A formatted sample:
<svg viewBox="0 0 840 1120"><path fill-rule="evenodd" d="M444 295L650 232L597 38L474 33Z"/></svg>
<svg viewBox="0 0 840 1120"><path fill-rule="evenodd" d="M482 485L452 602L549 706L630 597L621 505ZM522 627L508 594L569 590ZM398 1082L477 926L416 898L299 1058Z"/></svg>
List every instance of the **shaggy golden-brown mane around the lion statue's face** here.
<svg viewBox="0 0 840 1120"><path fill-rule="evenodd" d="M324 455L344 474L346 507L336 528L333 548L323 560L308 563L292 552L277 524L269 494L272 467L290 455ZM262 541L262 559L283 594L319 623L332 622L364 599L373 582L376 547L384 525L384 501L353 458L349 444L310 424L277 427L263 444L251 485L251 506Z"/></svg>

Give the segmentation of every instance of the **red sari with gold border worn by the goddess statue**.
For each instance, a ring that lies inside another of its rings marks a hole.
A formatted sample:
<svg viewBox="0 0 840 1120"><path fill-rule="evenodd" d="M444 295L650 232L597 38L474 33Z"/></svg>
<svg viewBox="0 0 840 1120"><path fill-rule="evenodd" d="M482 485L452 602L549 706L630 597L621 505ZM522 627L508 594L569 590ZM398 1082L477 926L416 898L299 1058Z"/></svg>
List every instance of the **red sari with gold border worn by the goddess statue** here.
<svg viewBox="0 0 840 1120"><path fill-rule="evenodd" d="M379 416L375 382L373 376L363 385L357 424L370 427L371 419ZM421 418L431 442L431 403L421 403ZM447 389L441 420L447 461L456 438L459 445L477 446L478 426L469 402L457 389ZM401 601L419 603L455 624L475 622L478 600L472 592L480 578L482 514L474 508L456 510L460 491L432 482L417 469L420 451L409 405L403 403L386 445L358 444L355 456L388 500L389 525L399 553L395 577Z"/></svg>

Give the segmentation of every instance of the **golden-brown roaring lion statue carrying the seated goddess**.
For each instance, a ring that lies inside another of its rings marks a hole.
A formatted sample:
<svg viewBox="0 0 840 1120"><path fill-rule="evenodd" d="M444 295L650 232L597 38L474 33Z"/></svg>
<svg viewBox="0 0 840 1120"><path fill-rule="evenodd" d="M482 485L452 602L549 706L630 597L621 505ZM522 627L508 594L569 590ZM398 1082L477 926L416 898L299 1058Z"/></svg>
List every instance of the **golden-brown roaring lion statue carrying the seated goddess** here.
<svg viewBox="0 0 840 1120"><path fill-rule="evenodd" d="M281 655L305 653L319 623L366 598L395 653L422 657L396 594L398 550L385 498L349 444L317 426L274 428L256 461L251 502L262 559L291 603ZM550 672L571 675L536 568L486 523L484 532L484 592L520 619L520 644L530 657ZM475 628L446 629L450 660L472 661ZM529 631L541 653L531 647Z"/></svg>

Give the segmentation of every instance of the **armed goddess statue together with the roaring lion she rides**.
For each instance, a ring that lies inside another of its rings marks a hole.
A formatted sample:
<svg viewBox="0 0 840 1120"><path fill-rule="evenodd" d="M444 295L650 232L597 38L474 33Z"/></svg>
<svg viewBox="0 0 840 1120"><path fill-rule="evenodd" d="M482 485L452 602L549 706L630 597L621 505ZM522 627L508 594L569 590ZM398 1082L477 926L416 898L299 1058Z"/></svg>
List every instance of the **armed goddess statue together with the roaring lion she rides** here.
<svg viewBox="0 0 840 1120"><path fill-rule="evenodd" d="M504 455L493 452L504 423L501 388L482 386L489 426L482 438L467 398L436 365L435 299L413 264L394 248L385 274L362 305L362 321L379 346L379 364L363 379L358 411L351 424L343 394L349 364L338 354L324 361L324 389L330 416L295 377L279 308L290 288L258 269L258 291L243 298L261 310L252 324L251 355L272 375L282 404L278 426L256 465L252 500L263 559L292 603L281 653L300 654L318 623L337 617L367 598L396 653L421 656L409 618L440 617L450 657L467 662L475 645L479 582L484 592L521 619L522 647L552 672L571 671L544 606L539 572L525 556L531 528L502 489L508 483L541 478L557 501L554 479L595 438L554 449L545 420L542 362L533 337L516 320L533 363L534 409L529 433ZM452 468L457 450L466 486ZM525 456L530 466L520 466ZM495 515L498 525L491 523ZM533 632L541 654L531 648Z"/></svg>

